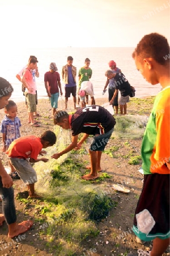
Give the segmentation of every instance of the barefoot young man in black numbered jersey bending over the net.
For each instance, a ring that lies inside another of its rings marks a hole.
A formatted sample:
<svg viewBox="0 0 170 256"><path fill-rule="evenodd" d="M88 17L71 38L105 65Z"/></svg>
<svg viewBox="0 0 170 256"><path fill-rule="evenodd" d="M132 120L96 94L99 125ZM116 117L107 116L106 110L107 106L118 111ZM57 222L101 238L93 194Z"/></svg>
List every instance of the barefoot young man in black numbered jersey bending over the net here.
<svg viewBox="0 0 170 256"><path fill-rule="evenodd" d="M78 109L73 115L58 110L54 114L54 124L63 129L72 130L72 142L65 150L54 154L52 158L58 159L70 150L79 149L82 143L90 134L94 135L94 141L90 146L91 170L90 174L82 176L84 180L97 179L97 171L101 171L100 160L102 151L112 135L113 127L116 124L114 117L103 107L92 105L86 108ZM83 133L82 139L78 142L78 134Z"/></svg>

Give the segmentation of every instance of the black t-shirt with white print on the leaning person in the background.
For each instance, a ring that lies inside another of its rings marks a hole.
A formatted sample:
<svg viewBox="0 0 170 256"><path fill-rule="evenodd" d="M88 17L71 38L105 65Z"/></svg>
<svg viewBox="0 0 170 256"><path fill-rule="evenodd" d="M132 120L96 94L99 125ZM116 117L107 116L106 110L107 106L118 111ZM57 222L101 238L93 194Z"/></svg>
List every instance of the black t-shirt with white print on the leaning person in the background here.
<svg viewBox="0 0 170 256"><path fill-rule="evenodd" d="M117 73L116 76L114 76L114 84L116 85L116 89L120 90L122 97L130 94L130 84L124 74Z"/></svg>

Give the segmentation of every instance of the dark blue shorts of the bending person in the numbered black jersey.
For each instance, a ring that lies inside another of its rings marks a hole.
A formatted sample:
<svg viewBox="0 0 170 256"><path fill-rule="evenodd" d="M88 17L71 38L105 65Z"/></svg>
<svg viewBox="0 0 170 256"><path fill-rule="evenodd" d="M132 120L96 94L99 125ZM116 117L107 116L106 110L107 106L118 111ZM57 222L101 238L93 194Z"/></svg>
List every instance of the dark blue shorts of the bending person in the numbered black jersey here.
<svg viewBox="0 0 170 256"><path fill-rule="evenodd" d="M90 145L90 150L91 151L104 151L104 148L107 145L109 138L111 138L112 133L113 133L113 129L108 131L105 134L95 135L94 140L92 141L92 143Z"/></svg>

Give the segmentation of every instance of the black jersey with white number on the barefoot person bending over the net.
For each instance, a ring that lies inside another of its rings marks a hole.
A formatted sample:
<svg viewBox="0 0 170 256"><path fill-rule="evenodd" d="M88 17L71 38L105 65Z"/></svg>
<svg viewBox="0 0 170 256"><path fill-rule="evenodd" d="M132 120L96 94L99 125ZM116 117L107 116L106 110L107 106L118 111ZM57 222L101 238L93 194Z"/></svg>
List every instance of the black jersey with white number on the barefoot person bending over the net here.
<svg viewBox="0 0 170 256"><path fill-rule="evenodd" d="M108 110L92 105L78 109L71 117L72 135L80 133L105 134L110 131L116 121Z"/></svg>

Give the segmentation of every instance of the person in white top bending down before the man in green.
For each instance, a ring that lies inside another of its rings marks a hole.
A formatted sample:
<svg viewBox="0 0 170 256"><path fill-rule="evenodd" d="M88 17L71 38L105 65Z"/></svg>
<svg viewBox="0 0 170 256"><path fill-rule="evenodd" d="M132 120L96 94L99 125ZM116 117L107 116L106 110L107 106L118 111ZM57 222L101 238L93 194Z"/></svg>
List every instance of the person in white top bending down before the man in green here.
<svg viewBox="0 0 170 256"><path fill-rule="evenodd" d="M91 97L91 105L95 105L94 86L90 81L82 82L79 90L79 98L80 98L80 101L82 102L82 108L86 107L85 98L87 95L90 95Z"/></svg>

